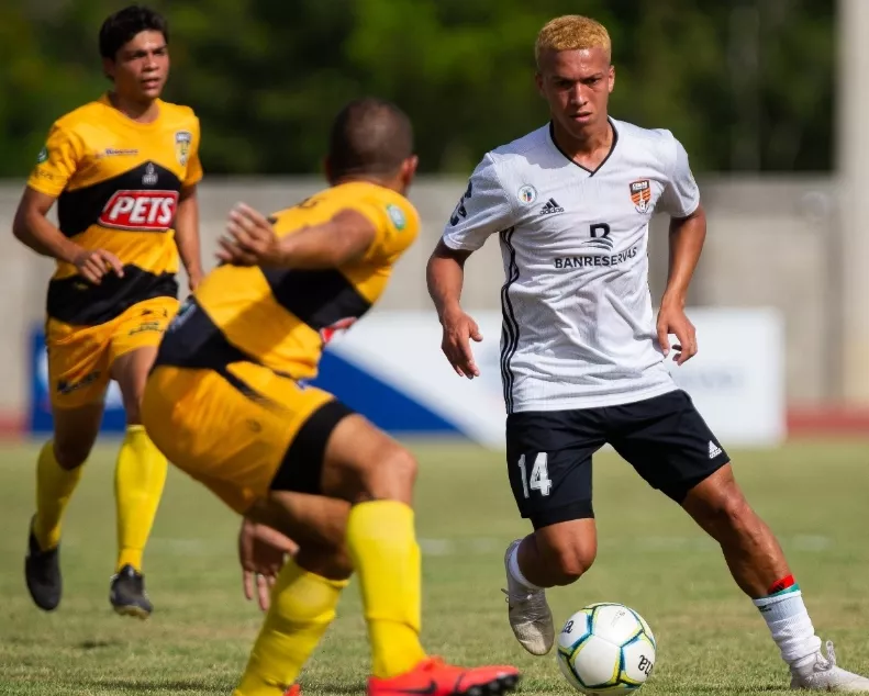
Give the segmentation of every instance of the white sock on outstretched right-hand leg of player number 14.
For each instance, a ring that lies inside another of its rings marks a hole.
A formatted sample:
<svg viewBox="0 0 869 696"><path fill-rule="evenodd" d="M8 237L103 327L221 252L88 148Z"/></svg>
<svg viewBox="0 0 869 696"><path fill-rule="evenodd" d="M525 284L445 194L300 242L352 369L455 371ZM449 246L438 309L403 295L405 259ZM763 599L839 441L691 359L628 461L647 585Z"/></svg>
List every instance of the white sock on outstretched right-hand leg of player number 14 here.
<svg viewBox="0 0 869 696"><path fill-rule="evenodd" d="M754 599L754 603L760 609L784 662L792 667L801 667L814 661L814 655L821 650L821 639L815 636L800 585Z"/></svg>

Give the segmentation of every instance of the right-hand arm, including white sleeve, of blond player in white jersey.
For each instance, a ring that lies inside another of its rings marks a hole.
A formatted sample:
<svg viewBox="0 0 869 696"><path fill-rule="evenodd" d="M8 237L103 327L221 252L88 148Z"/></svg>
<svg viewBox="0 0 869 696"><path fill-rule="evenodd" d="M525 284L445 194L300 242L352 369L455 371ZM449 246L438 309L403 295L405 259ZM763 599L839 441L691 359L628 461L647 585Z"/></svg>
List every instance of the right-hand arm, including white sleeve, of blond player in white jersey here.
<svg viewBox="0 0 869 696"><path fill-rule="evenodd" d="M669 334L679 344L675 360L682 364L698 351L697 332L684 312L688 288L694 274L703 242L706 238L706 214L700 203L700 192L688 164L682 145L675 141L676 157L672 173L661 194L660 206L670 214L670 263L667 288L658 313L658 341L664 355L669 353Z"/></svg>

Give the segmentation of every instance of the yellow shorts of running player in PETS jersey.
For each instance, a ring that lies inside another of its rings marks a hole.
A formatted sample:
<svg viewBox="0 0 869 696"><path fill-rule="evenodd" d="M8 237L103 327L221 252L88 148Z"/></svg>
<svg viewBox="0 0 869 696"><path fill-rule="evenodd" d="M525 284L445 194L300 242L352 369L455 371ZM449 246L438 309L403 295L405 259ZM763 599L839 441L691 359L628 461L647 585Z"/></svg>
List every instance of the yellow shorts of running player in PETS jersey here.
<svg viewBox="0 0 869 696"><path fill-rule="evenodd" d="M154 298L97 326L74 326L48 318L45 345L53 408L101 402L114 361L138 348L158 346L177 311L175 298Z"/></svg>

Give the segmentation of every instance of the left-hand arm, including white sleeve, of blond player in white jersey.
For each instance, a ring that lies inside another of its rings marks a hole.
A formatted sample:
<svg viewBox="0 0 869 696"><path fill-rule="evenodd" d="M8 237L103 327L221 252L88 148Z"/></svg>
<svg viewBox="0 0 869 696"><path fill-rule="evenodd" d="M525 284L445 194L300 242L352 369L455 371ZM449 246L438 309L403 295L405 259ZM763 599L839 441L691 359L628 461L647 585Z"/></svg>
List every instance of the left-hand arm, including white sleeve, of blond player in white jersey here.
<svg viewBox="0 0 869 696"><path fill-rule="evenodd" d="M511 200L487 155L471 175L426 267L428 294L444 328L441 348L459 377L480 375L470 341L482 340L477 322L461 308L465 261L490 234L510 227L513 217Z"/></svg>

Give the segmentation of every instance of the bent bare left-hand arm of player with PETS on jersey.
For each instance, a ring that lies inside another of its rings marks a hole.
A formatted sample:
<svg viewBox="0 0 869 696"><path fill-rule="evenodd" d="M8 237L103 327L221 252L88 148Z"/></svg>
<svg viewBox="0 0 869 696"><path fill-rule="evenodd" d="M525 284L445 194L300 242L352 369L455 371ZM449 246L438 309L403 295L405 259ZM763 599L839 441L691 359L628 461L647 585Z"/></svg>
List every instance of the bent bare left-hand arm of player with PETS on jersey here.
<svg viewBox="0 0 869 696"><path fill-rule="evenodd" d="M124 268L116 256L103 249L83 249L48 220L54 202L54 195L24 189L12 222L15 238L36 254L74 265L92 283L99 284L110 270L123 277Z"/></svg>

